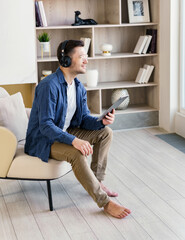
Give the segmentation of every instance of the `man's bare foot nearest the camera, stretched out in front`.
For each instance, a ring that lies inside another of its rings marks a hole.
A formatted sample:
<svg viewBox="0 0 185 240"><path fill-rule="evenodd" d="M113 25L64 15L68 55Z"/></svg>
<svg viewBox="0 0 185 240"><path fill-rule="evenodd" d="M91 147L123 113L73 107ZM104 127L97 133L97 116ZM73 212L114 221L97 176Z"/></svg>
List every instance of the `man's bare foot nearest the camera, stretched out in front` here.
<svg viewBox="0 0 185 240"><path fill-rule="evenodd" d="M105 205L104 211L109 213L111 216L120 218L120 219L128 216L131 213L129 209L113 201L110 201Z"/></svg>

